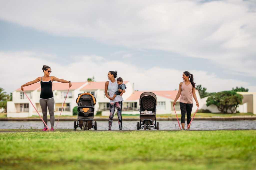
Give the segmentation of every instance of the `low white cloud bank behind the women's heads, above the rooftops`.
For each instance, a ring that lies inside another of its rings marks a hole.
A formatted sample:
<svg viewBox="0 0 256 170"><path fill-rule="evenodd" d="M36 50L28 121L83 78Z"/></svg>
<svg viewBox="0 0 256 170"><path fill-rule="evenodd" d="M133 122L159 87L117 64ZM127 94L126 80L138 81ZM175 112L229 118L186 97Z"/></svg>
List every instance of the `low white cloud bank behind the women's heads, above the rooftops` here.
<svg viewBox="0 0 256 170"><path fill-rule="evenodd" d="M45 54L44 54L45 55ZM54 56L47 54L47 56ZM178 89L179 82L182 82L184 70L171 68L138 67L131 63L122 61L108 61L101 56L73 56L76 59L66 65L61 65L57 61L48 60L49 57L42 57L29 51L4 52L0 51L0 58L5 59L0 63L1 85L8 93L16 90L22 84L35 80L42 76L42 66L48 65L52 69L52 76L72 82L86 81L88 77L94 75L96 81L108 81L107 73L117 70L118 76L124 81L134 83L136 90L174 90ZM194 75L194 81L207 88L207 91L231 90L232 87L243 86L250 91L256 91L256 86L249 86L249 83L234 80L220 79L214 73L200 70L188 70Z"/></svg>

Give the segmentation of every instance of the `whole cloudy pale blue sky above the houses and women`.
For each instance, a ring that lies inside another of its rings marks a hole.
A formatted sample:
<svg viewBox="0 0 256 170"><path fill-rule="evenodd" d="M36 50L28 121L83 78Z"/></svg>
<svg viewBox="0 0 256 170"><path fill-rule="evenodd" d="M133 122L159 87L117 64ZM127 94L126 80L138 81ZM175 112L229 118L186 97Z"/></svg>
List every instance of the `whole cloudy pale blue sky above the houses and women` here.
<svg viewBox="0 0 256 170"><path fill-rule="evenodd" d="M178 89L184 71L208 92L256 91L256 1L0 0L0 59L7 93L43 65L71 82L116 70L140 91Z"/></svg>

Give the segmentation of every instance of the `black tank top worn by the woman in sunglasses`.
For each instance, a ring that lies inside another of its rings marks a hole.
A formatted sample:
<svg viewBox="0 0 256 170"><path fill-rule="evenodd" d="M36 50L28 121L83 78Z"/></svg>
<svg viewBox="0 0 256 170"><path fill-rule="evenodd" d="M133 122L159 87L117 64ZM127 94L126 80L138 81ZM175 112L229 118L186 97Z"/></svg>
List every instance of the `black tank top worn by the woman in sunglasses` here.
<svg viewBox="0 0 256 170"><path fill-rule="evenodd" d="M48 81L48 82L43 82L42 77L41 77L40 84L41 84L40 99L53 98L51 77L50 77L50 81Z"/></svg>

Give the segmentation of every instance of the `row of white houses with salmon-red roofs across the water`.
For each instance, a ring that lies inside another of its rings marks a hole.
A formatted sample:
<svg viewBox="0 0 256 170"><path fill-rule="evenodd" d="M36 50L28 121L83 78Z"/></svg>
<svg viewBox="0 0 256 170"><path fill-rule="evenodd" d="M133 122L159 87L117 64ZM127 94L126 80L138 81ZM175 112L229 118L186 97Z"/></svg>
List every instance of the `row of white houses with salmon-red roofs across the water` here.
<svg viewBox="0 0 256 170"><path fill-rule="evenodd" d="M124 82L127 89L123 94L123 108L122 114L138 114L139 105L138 101L140 95L144 91L134 91L133 85L130 81ZM76 99L79 93L91 93L95 96L97 103L95 105L95 112L101 111L102 115L109 115L109 99L106 98L104 92L105 82L72 82L72 86L68 92L67 83L53 83L52 91L55 100L55 115L59 115L63 102L67 95L61 115L72 115L72 109L77 106ZM42 115L41 107L39 104L40 97L40 83L35 83L30 86L24 87L25 93ZM68 92L68 94L67 94ZM172 103L178 93L174 91L151 91L156 94L157 97L157 114L175 114ZM200 96L196 90L196 96L200 104ZM194 106L192 112L195 112L197 107L193 99ZM176 102L175 110L177 114L180 114L179 99ZM38 115L32 104L27 99L24 92L18 88L13 92L13 101L7 102L7 117L29 117Z"/></svg>

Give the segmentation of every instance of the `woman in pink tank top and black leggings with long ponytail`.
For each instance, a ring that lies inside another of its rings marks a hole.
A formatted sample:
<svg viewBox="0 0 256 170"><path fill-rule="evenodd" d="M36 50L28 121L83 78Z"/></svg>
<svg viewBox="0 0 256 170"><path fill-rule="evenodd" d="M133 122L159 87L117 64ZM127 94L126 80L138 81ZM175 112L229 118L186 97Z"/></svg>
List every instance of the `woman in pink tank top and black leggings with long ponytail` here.
<svg viewBox="0 0 256 170"><path fill-rule="evenodd" d="M195 83L194 83L194 76L190 74L188 71L185 71L182 75L183 82L179 83L179 91L174 99L173 106L176 104L180 94L179 106L181 111L181 125L182 129L185 130L185 116L187 112L187 125L189 125L191 121L191 111L193 108L193 99L194 97L196 101L196 106L199 107L198 100L196 98L196 90L195 90ZM189 80L190 79L190 80ZM188 127L189 130L190 126Z"/></svg>

